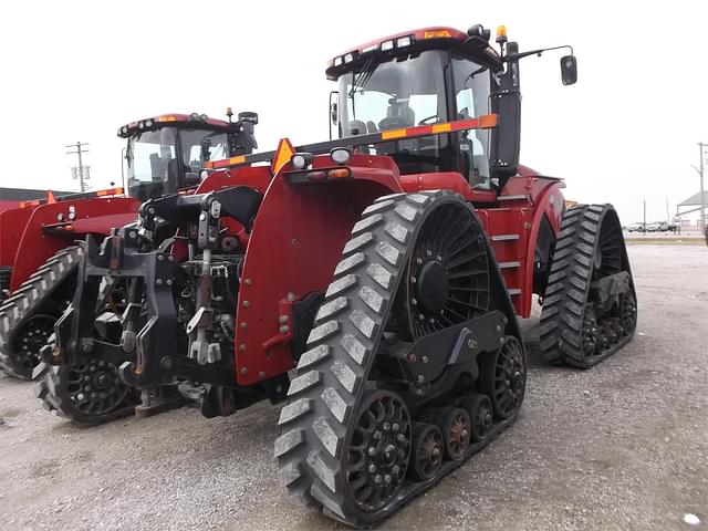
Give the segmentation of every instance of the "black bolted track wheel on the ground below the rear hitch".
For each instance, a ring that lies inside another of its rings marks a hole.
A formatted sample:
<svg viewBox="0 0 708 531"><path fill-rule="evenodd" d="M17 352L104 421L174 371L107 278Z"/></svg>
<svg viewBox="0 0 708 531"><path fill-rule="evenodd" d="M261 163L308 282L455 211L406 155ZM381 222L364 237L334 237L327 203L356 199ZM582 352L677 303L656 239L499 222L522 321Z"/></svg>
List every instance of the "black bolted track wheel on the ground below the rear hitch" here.
<svg viewBox="0 0 708 531"><path fill-rule="evenodd" d="M137 392L126 386L111 363L51 366L39 371L37 397L48 410L74 424L97 425L132 415L139 404Z"/></svg>

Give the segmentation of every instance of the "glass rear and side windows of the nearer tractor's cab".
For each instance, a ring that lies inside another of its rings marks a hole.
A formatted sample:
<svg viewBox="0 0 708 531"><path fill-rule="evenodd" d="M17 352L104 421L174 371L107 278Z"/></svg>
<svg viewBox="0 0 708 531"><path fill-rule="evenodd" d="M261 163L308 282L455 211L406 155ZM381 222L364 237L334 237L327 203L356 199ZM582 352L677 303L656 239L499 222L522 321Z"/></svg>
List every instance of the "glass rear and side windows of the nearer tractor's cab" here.
<svg viewBox="0 0 708 531"><path fill-rule="evenodd" d="M448 102L445 72L452 69ZM340 76L339 133L341 137L387 129L466 119L489 113L490 72L486 66L440 50L371 60ZM452 116L448 115L448 108ZM385 142L366 148L389 155L402 174L460 171L475 189L490 188L489 134L462 131Z"/></svg>

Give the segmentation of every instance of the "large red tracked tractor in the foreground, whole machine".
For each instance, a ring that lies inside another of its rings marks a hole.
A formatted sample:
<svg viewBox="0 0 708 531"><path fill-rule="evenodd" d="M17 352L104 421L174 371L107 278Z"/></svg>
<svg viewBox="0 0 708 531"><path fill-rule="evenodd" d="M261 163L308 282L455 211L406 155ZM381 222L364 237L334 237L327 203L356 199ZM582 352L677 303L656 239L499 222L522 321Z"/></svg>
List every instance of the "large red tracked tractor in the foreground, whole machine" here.
<svg viewBox="0 0 708 531"><path fill-rule="evenodd" d="M337 55L341 138L214 163L87 238L43 360L201 384L207 417L284 399L282 482L353 525L435 485L517 417L533 293L550 362L591 366L636 322L613 208L564 211L563 183L518 164L519 61L546 50L498 42L428 28ZM127 285L119 319L103 279Z"/></svg>

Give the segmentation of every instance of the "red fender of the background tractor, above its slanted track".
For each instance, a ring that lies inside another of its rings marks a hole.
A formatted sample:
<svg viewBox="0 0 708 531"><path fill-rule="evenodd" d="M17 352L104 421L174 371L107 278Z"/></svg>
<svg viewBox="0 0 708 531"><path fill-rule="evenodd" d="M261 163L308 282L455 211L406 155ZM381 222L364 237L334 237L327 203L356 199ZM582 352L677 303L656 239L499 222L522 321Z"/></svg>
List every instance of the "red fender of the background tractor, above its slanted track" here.
<svg viewBox="0 0 708 531"><path fill-rule="evenodd" d="M17 246L12 264L10 291L19 289L37 269L56 251L70 246L72 241L83 239L87 233L108 236L114 227L122 227L137 217L139 201L132 197L111 197L80 199L40 205L27 222ZM75 219L67 222L71 230L63 233L48 233L44 228L55 225L58 216L69 219L70 207L74 208ZM3 243L4 246L4 243Z"/></svg>

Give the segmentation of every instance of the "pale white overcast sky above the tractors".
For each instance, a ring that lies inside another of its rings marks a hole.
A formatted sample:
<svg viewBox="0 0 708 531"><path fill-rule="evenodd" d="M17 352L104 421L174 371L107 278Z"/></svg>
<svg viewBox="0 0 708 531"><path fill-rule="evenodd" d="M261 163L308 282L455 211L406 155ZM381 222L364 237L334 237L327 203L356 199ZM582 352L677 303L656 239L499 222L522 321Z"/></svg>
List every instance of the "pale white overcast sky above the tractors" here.
<svg viewBox="0 0 708 531"><path fill-rule="evenodd" d="M169 112L260 115L261 150L288 136L326 139L327 60L426 25L503 23L521 50L572 44L522 62L521 160L564 177L566 197L613 202L623 222L666 218L698 191L708 142L708 2L618 0L0 3L0 186L72 189L66 144L88 142L93 187L121 180L116 129ZM708 163L708 162L707 162ZM707 183L708 186L708 183Z"/></svg>

